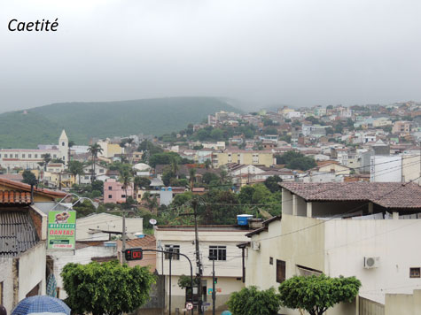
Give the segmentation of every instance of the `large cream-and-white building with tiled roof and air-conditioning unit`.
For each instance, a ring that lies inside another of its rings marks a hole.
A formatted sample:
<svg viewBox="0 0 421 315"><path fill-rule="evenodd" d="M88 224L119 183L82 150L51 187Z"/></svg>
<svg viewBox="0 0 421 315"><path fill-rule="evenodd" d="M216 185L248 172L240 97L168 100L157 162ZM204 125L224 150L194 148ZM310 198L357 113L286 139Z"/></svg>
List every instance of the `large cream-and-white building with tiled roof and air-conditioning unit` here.
<svg viewBox="0 0 421 315"><path fill-rule="evenodd" d="M386 294L410 295L419 288L421 252L408 242L421 237L417 184L281 186L282 219L269 219L247 234L246 286L277 288L293 275L355 276L363 284L359 295L382 305ZM341 303L327 314L354 315L357 304L358 299Z"/></svg>

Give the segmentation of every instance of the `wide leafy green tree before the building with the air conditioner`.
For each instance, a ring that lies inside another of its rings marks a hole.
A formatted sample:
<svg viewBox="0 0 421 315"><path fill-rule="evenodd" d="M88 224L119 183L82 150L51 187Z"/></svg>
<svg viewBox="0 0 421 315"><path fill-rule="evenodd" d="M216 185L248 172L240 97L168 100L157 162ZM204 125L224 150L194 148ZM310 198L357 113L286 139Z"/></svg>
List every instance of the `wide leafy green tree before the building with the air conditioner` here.
<svg viewBox="0 0 421 315"><path fill-rule="evenodd" d="M280 301L290 309L321 315L337 303L352 302L360 287L361 282L355 277L294 276L279 286Z"/></svg>

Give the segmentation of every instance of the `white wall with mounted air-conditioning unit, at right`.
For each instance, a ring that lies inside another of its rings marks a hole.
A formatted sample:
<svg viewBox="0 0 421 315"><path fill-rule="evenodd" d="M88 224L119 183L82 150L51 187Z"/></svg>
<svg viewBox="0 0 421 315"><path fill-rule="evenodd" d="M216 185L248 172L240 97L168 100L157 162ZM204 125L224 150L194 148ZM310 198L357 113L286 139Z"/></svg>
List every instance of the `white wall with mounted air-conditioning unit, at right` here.
<svg viewBox="0 0 421 315"><path fill-rule="evenodd" d="M410 267L421 267L420 219L342 219L323 226L325 273L356 276L360 296L385 303L386 293L410 294L421 286L421 278L409 278ZM379 257L378 267L365 269L364 257Z"/></svg>

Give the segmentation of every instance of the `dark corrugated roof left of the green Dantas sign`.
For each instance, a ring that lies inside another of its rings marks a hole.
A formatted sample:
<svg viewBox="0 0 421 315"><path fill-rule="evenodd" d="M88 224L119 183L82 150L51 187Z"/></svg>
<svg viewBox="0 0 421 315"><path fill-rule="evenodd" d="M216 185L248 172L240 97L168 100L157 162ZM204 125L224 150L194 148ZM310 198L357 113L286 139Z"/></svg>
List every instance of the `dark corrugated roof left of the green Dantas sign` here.
<svg viewBox="0 0 421 315"><path fill-rule="evenodd" d="M0 257L17 257L38 241L27 211L0 211Z"/></svg>

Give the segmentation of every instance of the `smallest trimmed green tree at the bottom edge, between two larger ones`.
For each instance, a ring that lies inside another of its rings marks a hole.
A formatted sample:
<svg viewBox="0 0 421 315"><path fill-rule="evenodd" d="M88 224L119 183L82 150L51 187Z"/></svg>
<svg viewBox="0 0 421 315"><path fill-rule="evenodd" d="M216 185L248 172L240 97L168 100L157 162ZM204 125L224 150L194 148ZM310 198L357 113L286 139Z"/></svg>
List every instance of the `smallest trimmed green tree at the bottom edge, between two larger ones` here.
<svg viewBox="0 0 421 315"><path fill-rule="evenodd" d="M251 286L234 292L227 302L232 315L277 315L280 301L275 288Z"/></svg>

